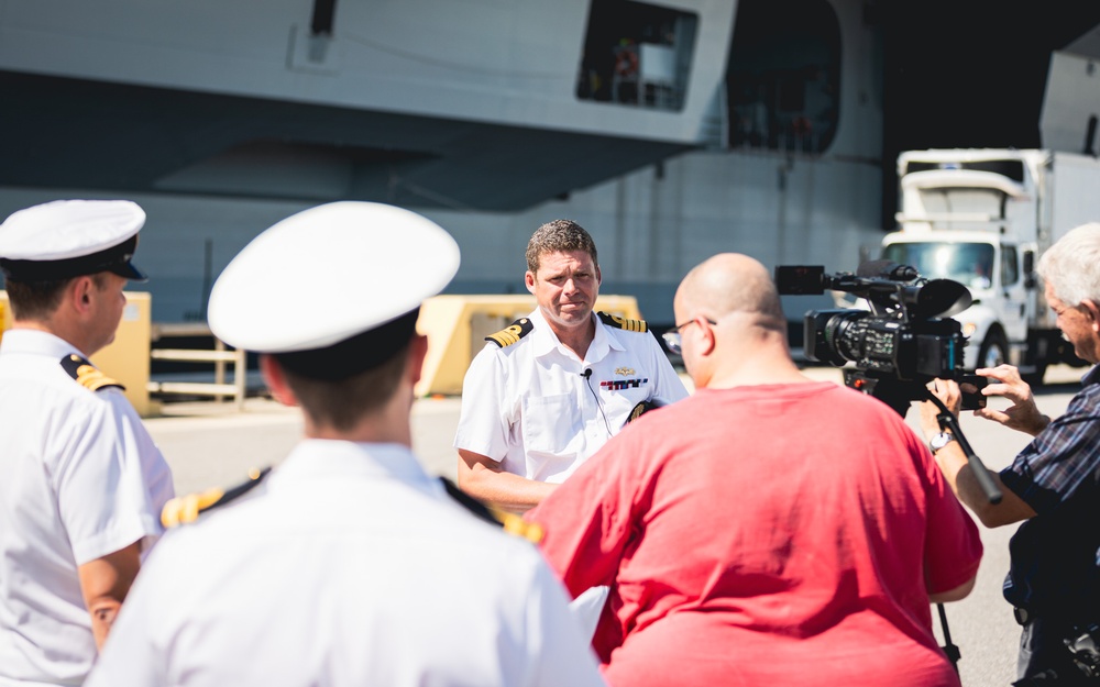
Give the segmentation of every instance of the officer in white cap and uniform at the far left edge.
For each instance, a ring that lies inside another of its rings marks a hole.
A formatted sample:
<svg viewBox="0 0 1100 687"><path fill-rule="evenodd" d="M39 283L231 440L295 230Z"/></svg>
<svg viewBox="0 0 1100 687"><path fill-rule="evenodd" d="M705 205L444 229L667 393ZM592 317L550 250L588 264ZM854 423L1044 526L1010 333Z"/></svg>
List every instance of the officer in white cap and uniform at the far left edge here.
<svg viewBox="0 0 1100 687"><path fill-rule="evenodd" d="M13 325L0 341L0 685L91 669L172 498L121 387L88 357L114 339L145 213L66 200L0 224Z"/></svg>

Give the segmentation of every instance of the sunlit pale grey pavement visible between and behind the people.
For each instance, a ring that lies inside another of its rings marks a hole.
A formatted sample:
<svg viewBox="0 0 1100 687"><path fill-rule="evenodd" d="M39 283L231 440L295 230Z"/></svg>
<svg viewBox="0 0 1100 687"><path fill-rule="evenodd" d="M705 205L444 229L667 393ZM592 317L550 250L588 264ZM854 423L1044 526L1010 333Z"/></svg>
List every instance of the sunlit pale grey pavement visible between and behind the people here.
<svg viewBox="0 0 1100 687"><path fill-rule="evenodd" d="M807 368L807 375L840 384L839 370ZM1043 412L1060 414L1080 388L1084 369L1055 367L1047 373L1047 384L1036 390ZM689 388L690 380L688 380ZM991 405L1004 405L992 399ZM460 398L424 398L414 403L413 448L425 468L432 474L454 477L457 456L451 447L459 419ZM213 401L168 403L163 415L146 420L165 458L173 468L177 494L224 487L244 479L248 469L278 465L299 441L301 419L296 409L285 408L266 398L250 398L238 412L231 402ZM906 421L920 434L915 407ZM1007 466L1030 437L993 422L963 413L964 434L982 462L992 470ZM851 428L858 437L859 428ZM985 557L974 592L963 601L946 607L952 640L959 646L959 664L965 687L1003 687L1015 678L1019 627L1001 597L1001 583L1009 565L1009 538L1015 525L988 530L981 528ZM899 542L899 545L905 545ZM934 613L935 617L935 613ZM937 636L943 638L938 618ZM867 650L875 651L873 646ZM900 672L904 666L898 666Z"/></svg>

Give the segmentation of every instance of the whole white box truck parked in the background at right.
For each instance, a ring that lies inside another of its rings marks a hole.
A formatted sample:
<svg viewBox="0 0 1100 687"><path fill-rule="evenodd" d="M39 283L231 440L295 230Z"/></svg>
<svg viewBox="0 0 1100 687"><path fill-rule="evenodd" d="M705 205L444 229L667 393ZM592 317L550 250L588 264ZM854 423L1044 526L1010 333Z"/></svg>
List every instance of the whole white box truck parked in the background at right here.
<svg viewBox="0 0 1100 687"><path fill-rule="evenodd" d="M960 281L964 366L1008 362L1041 381L1047 365L1082 365L1055 328L1034 268L1066 231L1100 221L1100 160L1038 149L910 151L898 158L899 230L882 257Z"/></svg>

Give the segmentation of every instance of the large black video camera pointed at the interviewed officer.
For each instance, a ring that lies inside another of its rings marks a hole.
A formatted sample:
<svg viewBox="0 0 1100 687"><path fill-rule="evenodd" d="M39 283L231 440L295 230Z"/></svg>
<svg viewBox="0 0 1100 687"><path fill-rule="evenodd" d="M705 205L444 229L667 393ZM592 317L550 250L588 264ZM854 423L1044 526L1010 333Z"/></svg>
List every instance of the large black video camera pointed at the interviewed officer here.
<svg viewBox="0 0 1100 687"><path fill-rule="evenodd" d="M923 279L908 265L872 261L850 273L825 274L821 266L779 266L776 285L787 296L827 289L867 300L869 310L811 310L805 320L805 355L842 366L845 386L884 401L904 415L911 401L925 398L934 378L985 386L983 377L963 374L963 328L950 315L970 306L970 291L950 279ZM966 394L964 410L985 397Z"/></svg>

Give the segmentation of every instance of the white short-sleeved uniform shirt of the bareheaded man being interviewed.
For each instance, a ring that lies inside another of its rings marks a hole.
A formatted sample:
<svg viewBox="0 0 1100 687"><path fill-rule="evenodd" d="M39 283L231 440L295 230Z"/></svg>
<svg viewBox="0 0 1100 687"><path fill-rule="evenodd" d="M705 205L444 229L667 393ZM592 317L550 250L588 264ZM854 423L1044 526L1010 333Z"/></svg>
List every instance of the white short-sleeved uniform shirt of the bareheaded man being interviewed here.
<svg viewBox="0 0 1100 687"><path fill-rule="evenodd" d="M529 334L504 347L487 343L466 370L454 447L528 479L561 483L623 429L636 405L688 396L651 333L592 317L595 337L583 361L537 308Z"/></svg>

